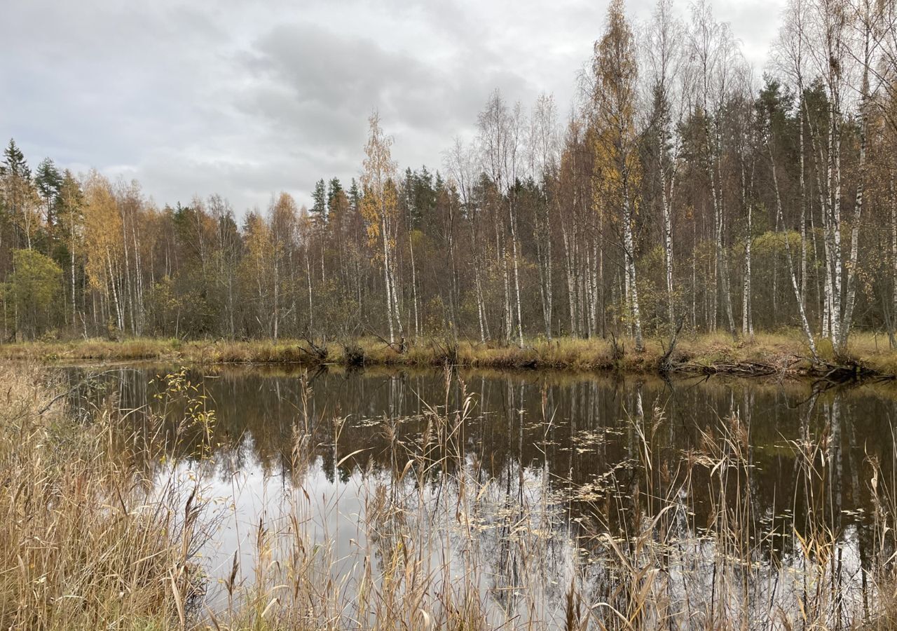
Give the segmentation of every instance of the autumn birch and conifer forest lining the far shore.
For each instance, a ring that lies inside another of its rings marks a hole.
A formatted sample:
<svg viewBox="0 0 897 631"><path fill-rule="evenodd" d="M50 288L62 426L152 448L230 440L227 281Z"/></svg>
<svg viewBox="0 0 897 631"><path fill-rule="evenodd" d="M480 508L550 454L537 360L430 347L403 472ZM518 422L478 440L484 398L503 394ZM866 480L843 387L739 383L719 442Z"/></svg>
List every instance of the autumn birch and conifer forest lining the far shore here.
<svg viewBox="0 0 897 631"><path fill-rule="evenodd" d="M622 0L562 117L493 92L441 171L374 112L361 177L238 214L0 165L4 339L668 335L796 328L815 353L897 315L891 0L790 0L756 81L703 1Z"/></svg>

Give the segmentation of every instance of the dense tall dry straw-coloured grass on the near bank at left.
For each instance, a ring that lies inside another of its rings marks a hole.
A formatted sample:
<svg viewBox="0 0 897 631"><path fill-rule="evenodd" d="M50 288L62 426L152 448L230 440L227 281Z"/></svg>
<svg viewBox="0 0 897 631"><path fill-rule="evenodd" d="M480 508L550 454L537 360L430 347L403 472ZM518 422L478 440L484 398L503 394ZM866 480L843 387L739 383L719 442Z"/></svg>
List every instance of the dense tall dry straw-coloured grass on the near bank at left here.
<svg viewBox="0 0 897 631"><path fill-rule="evenodd" d="M110 410L79 419L45 379L0 368L0 626L179 624L200 595L200 502L135 475Z"/></svg>

